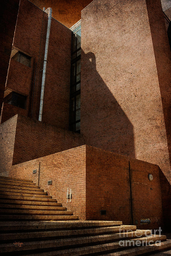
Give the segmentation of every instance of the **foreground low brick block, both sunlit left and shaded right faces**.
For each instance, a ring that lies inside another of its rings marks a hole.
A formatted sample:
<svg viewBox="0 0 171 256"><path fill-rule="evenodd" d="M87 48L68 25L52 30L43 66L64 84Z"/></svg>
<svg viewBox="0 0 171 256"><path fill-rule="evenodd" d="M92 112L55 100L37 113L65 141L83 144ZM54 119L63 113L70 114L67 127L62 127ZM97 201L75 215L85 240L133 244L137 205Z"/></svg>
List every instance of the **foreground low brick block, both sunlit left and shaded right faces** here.
<svg viewBox="0 0 171 256"><path fill-rule="evenodd" d="M137 220L137 227L142 228L141 218L150 218L151 224L143 228L159 228L162 202L157 165L84 145L12 166L9 176L32 179L81 219L132 224L129 161L133 224ZM149 181L149 173L153 181ZM50 179L52 185L48 186ZM67 189L72 191L68 203ZM101 215L101 210L107 214Z"/></svg>

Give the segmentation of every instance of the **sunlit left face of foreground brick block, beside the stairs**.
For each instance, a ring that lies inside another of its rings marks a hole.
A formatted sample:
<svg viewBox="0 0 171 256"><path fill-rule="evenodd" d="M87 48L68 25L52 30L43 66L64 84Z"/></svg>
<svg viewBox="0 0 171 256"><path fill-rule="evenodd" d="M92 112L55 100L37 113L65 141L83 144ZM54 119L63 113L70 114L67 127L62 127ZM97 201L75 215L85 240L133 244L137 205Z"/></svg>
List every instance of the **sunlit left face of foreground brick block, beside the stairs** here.
<svg viewBox="0 0 171 256"><path fill-rule="evenodd" d="M40 163L40 172L39 172ZM33 170L37 169L36 174ZM56 198L74 215L86 218L86 146L72 148L50 156L12 166L10 177L33 180ZM52 185L47 181L52 179ZM67 189L72 190L72 201L66 202Z"/></svg>

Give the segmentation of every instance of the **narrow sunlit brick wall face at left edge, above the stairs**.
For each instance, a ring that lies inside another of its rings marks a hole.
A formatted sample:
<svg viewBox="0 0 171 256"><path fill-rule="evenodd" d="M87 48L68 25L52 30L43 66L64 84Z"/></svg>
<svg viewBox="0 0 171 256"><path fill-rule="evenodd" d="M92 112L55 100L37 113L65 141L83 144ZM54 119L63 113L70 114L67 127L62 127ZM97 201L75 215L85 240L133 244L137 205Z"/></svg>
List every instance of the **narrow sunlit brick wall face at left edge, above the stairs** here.
<svg viewBox="0 0 171 256"><path fill-rule="evenodd" d="M17 116L0 125L0 172L8 176L8 169L12 166Z"/></svg>

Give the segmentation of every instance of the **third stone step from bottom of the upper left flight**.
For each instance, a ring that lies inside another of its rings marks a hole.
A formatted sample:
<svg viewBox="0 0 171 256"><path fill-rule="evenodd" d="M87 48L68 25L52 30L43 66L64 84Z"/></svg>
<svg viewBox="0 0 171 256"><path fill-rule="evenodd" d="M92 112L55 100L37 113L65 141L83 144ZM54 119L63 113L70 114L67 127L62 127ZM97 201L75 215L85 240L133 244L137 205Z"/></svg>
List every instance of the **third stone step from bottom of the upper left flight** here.
<svg viewBox="0 0 171 256"><path fill-rule="evenodd" d="M28 209L28 210L43 210L43 211L66 211L66 207L61 206L39 206L39 205L1 205L0 204L0 209Z"/></svg>

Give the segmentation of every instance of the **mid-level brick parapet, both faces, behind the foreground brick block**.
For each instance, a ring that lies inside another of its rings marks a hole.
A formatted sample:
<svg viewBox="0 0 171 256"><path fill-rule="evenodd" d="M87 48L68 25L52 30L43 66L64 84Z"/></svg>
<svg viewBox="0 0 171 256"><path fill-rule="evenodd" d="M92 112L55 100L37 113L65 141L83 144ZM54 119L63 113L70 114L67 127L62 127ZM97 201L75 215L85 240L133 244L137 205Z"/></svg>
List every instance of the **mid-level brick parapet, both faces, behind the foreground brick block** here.
<svg viewBox="0 0 171 256"><path fill-rule="evenodd" d="M15 125L13 125L14 121ZM83 138L78 133L21 115L15 115L0 127L3 148L0 169L2 171L11 167L12 164L26 162L83 144Z"/></svg>

